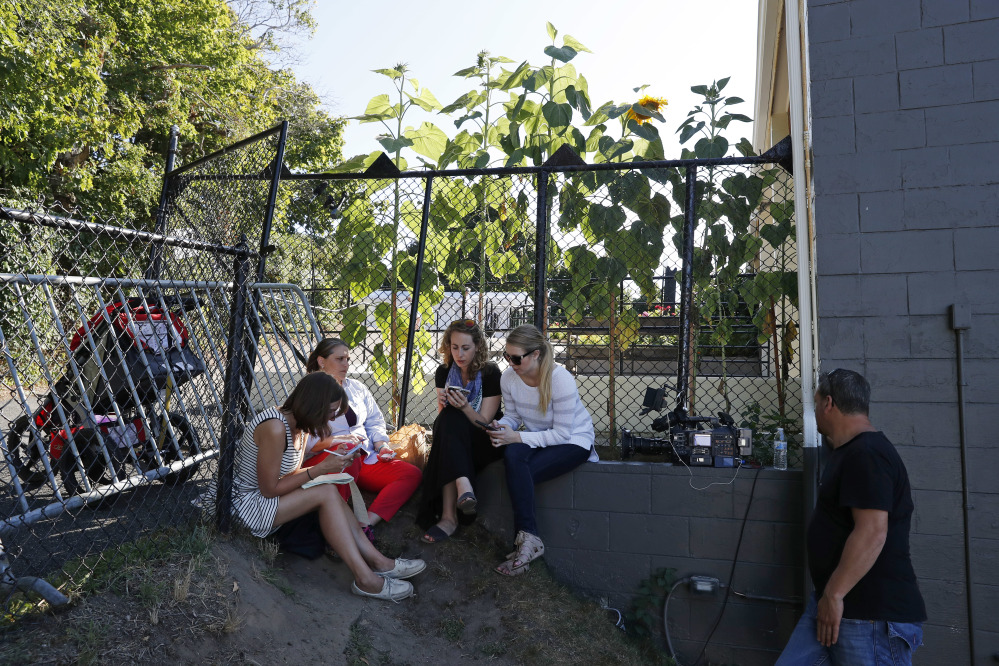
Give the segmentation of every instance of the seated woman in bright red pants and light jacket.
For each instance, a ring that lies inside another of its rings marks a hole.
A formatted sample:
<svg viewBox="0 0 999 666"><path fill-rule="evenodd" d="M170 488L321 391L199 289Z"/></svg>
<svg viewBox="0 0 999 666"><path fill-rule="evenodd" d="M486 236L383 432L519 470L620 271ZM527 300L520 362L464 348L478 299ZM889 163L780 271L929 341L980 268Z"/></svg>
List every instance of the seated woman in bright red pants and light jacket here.
<svg viewBox="0 0 999 666"><path fill-rule="evenodd" d="M423 474L415 465L395 460L395 451L389 446L385 431L385 417L371 391L364 384L347 376L350 368L350 347L340 338L326 338L321 341L306 364L308 372L325 372L332 375L347 393L350 407L346 413L330 422L332 436L352 435L368 451L367 455L356 456L343 471L354 477L358 488L378 493L368 507L370 526L365 528L369 539L373 539L371 527L382 520L391 520L399 508L406 503ZM307 449L311 451L317 440L310 440ZM325 454L328 455L328 454ZM313 464L324 456L314 456L305 464ZM339 486L346 495L347 486Z"/></svg>

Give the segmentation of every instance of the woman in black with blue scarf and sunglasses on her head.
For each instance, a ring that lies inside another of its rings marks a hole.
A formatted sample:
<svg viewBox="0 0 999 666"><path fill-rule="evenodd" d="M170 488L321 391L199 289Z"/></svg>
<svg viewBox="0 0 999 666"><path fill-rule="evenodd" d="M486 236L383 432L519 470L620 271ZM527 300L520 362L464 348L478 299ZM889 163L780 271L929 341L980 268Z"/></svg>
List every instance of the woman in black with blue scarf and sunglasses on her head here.
<svg viewBox="0 0 999 666"><path fill-rule="evenodd" d="M452 322L440 346L444 363L437 368L437 420L434 441L423 473L416 522L426 529L425 543L446 541L459 522L475 519L476 472L499 460L476 421L488 423L502 416L500 370L487 361L482 329L472 319Z"/></svg>

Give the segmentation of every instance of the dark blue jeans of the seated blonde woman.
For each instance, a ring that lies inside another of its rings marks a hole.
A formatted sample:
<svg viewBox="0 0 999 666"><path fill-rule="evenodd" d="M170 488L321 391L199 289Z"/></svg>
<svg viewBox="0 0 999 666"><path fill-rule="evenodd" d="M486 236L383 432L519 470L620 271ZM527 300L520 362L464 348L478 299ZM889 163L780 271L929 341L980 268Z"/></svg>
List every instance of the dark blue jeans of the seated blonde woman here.
<svg viewBox="0 0 999 666"><path fill-rule="evenodd" d="M590 457L590 452L575 444L532 449L527 444L515 442L504 448L506 487L513 505L513 529L538 536L534 486L579 467Z"/></svg>

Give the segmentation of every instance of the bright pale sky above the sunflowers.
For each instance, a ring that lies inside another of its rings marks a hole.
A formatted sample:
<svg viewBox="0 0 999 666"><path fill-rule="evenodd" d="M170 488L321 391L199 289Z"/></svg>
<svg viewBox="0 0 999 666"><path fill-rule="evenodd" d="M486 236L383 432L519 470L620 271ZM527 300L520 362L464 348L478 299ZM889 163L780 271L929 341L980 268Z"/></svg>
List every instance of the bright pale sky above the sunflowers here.
<svg viewBox="0 0 999 666"><path fill-rule="evenodd" d="M671 158L680 153L676 127L697 101L691 86L731 76L726 94L746 100L735 110L753 115L756 14L756 0L318 0L319 26L301 45L301 62L293 68L335 115L360 115L369 99L393 92L391 81L371 70L399 62L408 63L410 75L446 105L472 87L472 80L452 74L474 64L482 49L547 64L545 23L551 21L559 30L558 46L569 34L593 51L572 62L589 82L594 108L609 100L635 101L632 89L643 84L649 84L646 93L669 100L659 129ZM424 120L455 134L443 116L406 116L408 125ZM344 154L380 149L375 137L381 131L377 123L351 121ZM748 124L738 123L729 134L733 142L751 135Z"/></svg>

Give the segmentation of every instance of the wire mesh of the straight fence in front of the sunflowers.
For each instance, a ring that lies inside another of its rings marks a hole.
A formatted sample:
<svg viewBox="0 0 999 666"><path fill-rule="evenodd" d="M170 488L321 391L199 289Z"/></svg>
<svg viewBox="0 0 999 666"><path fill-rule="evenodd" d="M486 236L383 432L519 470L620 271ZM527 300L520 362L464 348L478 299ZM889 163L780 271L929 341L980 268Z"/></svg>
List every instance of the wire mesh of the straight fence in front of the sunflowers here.
<svg viewBox="0 0 999 666"><path fill-rule="evenodd" d="M730 414L758 442L776 427L794 442L801 399L791 177L776 164L728 162L296 176L282 183L287 235L267 273L306 288L324 334L352 345L352 372L396 422L433 420L427 387L441 334L473 318L501 367L507 332L522 323L546 328L558 362L576 375L599 443L611 448L621 428L652 434L651 418L639 416L649 386L667 389L670 408ZM550 180L539 207L542 177ZM689 332L681 317L688 229ZM540 291L539 237L547 239ZM402 355L421 258L404 400Z"/></svg>

